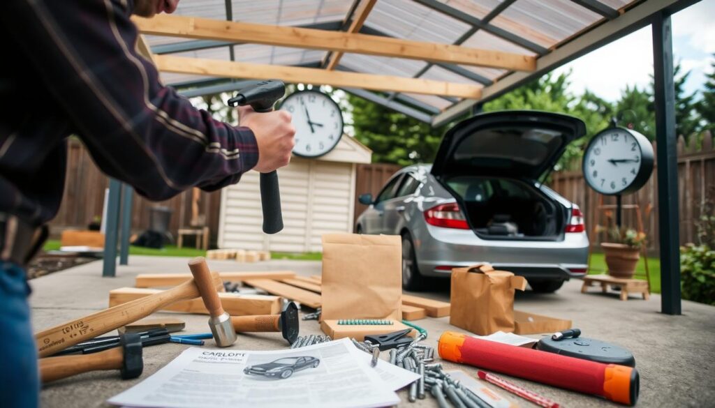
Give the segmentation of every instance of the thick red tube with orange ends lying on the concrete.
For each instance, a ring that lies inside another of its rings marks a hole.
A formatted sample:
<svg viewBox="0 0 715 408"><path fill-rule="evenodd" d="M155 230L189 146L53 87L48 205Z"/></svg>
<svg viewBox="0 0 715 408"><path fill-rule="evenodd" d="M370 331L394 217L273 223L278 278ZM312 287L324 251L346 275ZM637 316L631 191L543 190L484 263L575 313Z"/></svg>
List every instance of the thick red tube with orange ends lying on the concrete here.
<svg viewBox="0 0 715 408"><path fill-rule="evenodd" d="M599 395L621 404L634 405L638 400L638 371L633 367L490 342L455 332L444 332L438 347L440 357L450 362Z"/></svg>

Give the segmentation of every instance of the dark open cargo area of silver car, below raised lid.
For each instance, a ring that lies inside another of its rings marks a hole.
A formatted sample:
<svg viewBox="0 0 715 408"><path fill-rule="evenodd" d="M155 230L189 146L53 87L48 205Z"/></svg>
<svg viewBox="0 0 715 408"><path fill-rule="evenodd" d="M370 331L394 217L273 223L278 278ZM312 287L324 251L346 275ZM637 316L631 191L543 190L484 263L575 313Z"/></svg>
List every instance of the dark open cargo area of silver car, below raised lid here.
<svg viewBox="0 0 715 408"><path fill-rule="evenodd" d="M445 184L480 238L563 239L567 209L533 184L478 176L453 176Z"/></svg>

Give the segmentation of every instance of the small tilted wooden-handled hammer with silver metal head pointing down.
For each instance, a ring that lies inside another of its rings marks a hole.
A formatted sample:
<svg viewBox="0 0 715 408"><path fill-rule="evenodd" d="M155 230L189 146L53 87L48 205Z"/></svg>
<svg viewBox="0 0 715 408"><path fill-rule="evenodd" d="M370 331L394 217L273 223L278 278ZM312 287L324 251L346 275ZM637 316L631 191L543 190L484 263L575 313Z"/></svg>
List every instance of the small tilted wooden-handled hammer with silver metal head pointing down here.
<svg viewBox="0 0 715 408"><path fill-rule="evenodd" d="M199 288L204 306L209 311L209 327L218 347L229 347L236 342L236 332L231 324L231 317L226 313L219 299L217 288L212 284L211 272L204 257L189 261L189 269L194 275L194 282Z"/></svg>

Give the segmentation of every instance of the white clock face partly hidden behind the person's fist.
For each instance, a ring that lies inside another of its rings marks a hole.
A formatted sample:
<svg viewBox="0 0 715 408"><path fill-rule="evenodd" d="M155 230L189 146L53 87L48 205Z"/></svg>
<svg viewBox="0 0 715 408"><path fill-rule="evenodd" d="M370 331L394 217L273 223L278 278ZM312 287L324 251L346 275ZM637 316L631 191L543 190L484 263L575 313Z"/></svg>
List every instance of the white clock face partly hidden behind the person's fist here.
<svg viewBox="0 0 715 408"><path fill-rule="evenodd" d="M317 157L331 151L342 136L342 112L330 96L317 91L290 94L280 106L293 116L298 156Z"/></svg>

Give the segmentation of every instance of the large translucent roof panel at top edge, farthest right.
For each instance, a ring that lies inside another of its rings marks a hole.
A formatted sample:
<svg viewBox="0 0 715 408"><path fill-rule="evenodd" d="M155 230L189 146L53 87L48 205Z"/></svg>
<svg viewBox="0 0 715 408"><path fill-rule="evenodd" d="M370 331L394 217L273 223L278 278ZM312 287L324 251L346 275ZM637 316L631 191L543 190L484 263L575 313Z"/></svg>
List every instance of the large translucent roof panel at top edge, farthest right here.
<svg viewBox="0 0 715 408"><path fill-rule="evenodd" d="M517 0L491 23L548 48L601 19L568 0Z"/></svg>

